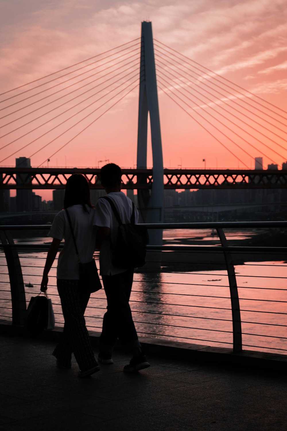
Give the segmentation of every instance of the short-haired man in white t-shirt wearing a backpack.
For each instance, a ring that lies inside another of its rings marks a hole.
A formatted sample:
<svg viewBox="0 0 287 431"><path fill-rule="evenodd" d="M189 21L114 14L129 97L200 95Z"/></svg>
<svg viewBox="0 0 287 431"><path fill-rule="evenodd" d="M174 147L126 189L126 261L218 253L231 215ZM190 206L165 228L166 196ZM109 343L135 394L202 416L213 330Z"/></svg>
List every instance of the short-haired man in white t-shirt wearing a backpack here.
<svg viewBox="0 0 287 431"><path fill-rule="evenodd" d="M133 204L121 191L121 169L114 163L108 163L100 172L101 184L108 197L113 201L122 223L130 223ZM133 284L133 269L120 269L111 262L111 246L117 239L118 222L108 200L100 198L96 205L97 248L100 250L100 273L107 296L107 311L103 319L102 334L99 339L98 360L111 364L114 344L119 338L126 350L133 352L133 357L124 372L139 371L148 368L145 354L142 352L136 328L130 310L129 300ZM139 214L135 208L135 222Z"/></svg>

